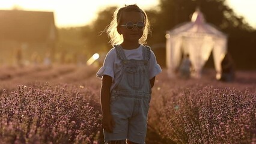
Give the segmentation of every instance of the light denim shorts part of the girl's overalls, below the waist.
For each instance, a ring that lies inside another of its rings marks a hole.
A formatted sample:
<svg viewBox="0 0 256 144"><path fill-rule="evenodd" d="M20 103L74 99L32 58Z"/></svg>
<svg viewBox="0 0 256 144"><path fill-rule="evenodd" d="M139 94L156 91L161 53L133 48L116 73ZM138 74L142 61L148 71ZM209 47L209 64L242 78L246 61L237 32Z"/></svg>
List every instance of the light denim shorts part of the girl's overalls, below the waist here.
<svg viewBox="0 0 256 144"><path fill-rule="evenodd" d="M104 130L105 141L126 140L145 143L147 133L147 113L150 95L111 95L111 114L115 121L113 133Z"/></svg>

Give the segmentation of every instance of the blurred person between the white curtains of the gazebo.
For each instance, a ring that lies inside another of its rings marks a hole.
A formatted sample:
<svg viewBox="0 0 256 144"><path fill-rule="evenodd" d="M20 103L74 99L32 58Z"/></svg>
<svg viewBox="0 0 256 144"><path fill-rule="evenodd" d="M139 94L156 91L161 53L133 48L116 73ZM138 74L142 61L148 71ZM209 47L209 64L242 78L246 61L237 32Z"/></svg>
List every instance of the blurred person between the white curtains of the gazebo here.
<svg viewBox="0 0 256 144"><path fill-rule="evenodd" d="M191 73L192 63L189 59L189 54L186 54L180 65L180 77L182 79L189 79Z"/></svg>

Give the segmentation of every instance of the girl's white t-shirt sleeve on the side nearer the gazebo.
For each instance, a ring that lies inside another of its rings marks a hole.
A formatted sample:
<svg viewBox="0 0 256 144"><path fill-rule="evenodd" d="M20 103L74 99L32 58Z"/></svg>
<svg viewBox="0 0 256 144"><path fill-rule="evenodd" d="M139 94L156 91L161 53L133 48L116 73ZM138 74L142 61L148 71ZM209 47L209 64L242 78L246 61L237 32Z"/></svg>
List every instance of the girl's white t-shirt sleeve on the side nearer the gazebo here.
<svg viewBox="0 0 256 144"><path fill-rule="evenodd" d="M159 64L157 64L156 56L154 55L152 50L150 53L149 64L149 77L150 79L152 79L154 76L162 72L162 68Z"/></svg>

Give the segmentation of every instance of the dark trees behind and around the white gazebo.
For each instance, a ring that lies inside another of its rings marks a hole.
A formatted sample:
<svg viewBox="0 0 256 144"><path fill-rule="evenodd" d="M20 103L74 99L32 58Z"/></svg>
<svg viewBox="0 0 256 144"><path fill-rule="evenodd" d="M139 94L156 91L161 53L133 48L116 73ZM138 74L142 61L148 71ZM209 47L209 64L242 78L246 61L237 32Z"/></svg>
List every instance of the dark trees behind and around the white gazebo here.
<svg viewBox="0 0 256 144"><path fill-rule="evenodd" d="M160 0L159 10L150 11L148 14L153 17L151 19L154 19L151 25L153 35L148 38L149 43L165 43L166 31L183 22L189 22L198 7L207 22L228 35L228 50L236 61L237 68L256 68L246 62L256 61L252 54L256 53L253 48L256 45L254 42L256 31L245 22L243 17L237 16L232 8L225 4L225 0ZM237 44L238 41L240 41L239 44Z"/></svg>

